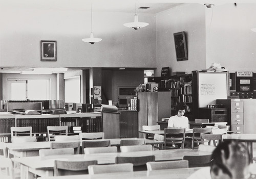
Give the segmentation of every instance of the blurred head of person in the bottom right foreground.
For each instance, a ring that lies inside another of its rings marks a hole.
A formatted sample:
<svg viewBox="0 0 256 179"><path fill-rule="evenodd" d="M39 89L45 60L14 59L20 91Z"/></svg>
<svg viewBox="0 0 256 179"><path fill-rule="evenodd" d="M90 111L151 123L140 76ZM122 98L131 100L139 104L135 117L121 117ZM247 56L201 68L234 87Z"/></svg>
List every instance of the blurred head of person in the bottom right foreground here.
<svg viewBox="0 0 256 179"><path fill-rule="evenodd" d="M224 141L212 152L210 175L215 178L248 178L250 157L244 144Z"/></svg>

